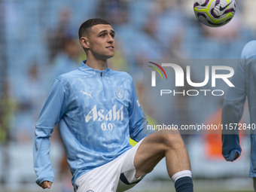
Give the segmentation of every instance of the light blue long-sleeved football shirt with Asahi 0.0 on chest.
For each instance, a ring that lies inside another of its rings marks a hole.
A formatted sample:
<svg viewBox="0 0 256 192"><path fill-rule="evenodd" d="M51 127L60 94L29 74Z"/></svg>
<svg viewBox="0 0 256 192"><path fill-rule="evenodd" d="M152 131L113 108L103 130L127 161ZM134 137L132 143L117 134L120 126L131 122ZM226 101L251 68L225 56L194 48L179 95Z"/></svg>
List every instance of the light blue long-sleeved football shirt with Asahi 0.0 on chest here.
<svg viewBox="0 0 256 192"><path fill-rule="evenodd" d="M53 127L66 147L72 184L81 175L114 160L152 133L139 105L133 79L126 72L91 69L81 62L53 83L35 126L34 169L42 181L53 181L50 140Z"/></svg>

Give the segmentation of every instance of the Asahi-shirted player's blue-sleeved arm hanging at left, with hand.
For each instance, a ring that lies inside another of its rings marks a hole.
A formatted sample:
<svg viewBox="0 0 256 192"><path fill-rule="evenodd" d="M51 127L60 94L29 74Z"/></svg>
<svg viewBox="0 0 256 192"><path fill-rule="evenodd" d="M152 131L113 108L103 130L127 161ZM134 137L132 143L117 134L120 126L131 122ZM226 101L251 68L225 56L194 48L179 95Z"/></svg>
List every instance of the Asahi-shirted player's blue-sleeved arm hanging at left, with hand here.
<svg viewBox="0 0 256 192"><path fill-rule="evenodd" d="M37 175L36 183L43 188L50 187L54 179L53 169L50 164L49 138L53 133L53 127L59 122L65 111L66 91L61 82L56 79L38 117L33 141L34 169Z"/></svg>

